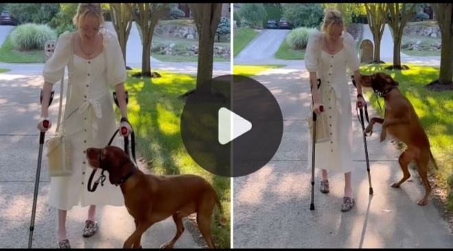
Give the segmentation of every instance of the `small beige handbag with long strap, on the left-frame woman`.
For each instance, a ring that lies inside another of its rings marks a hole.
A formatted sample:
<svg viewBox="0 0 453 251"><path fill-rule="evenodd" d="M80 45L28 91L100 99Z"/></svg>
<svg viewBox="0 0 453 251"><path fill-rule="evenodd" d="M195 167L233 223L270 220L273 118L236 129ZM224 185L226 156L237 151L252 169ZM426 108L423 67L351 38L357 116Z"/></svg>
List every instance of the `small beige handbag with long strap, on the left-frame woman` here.
<svg viewBox="0 0 453 251"><path fill-rule="evenodd" d="M66 139L65 130L63 127L62 132L60 131L63 121L60 123L61 108L62 108L62 93L63 93L63 80L65 78L65 71L61 78L60 88L60 107L58 108L58 122L56 127L56 136L48 139L45 143L47 147L47 163L49 176L71 176L73 170L71 166L71 142ZM68 87L69 89L69 83ZM67 90L68 93L68 90ZM69 118L69 117L68 117Z"/></svg>

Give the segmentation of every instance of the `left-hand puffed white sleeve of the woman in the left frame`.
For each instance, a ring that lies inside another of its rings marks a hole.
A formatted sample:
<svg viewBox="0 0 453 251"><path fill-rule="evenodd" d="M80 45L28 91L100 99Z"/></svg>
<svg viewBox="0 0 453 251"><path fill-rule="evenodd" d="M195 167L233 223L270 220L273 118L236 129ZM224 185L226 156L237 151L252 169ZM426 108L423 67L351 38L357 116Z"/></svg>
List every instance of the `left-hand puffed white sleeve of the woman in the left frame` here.
<svg viewBox="0 0 453 251"><path fill-rule="evenodd" d="M54 54L44 64L43 77L45 82L55 84L61 80L63 71L73 52L71 38L70 32L65 32L58 38Z"/></svg>

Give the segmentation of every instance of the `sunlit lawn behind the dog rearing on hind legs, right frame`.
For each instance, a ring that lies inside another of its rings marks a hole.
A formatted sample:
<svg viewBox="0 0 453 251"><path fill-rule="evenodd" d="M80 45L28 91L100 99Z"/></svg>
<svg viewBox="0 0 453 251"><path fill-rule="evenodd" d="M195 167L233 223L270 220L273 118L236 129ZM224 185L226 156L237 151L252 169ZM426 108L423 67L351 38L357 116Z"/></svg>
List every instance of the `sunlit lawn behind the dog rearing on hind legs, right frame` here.
<svg viewBox="0 0 453 251"><path fill-rule="evenodd" d="M410 103L420 118L421 124L428 134L432 155L439 166L433 170L435 184L448 196L446 207L453 212L453 91L428 91L424 86L439 78L439 68L408 64L409 70L388 71L384 68L389 64L369 64L360 67L360 72L370 74L377 71L387 73L399 83L399 90ZM377 101L372 91L367 95L376 108ZM381 104L383 101L381 100Z"/></svg>

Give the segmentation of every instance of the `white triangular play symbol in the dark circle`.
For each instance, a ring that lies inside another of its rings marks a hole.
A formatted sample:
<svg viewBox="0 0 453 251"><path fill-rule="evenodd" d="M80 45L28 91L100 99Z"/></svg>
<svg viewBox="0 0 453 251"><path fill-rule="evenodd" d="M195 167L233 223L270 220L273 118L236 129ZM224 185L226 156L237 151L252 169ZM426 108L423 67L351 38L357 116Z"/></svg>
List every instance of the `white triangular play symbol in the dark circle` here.
<svg viewBox="0 0 453 251"><path fill-rule="evenodd" d="M233 139L236 139L238 136L241 136L252 129L252 123L250 121L247 121L243 117L240 117L224 107L219 109L218 121L218 137L219 142L222 145L229 143ZM231 123L231 121L233 121L233 123ZM231 130L231 128L233 128L233 130Z"/></svg>

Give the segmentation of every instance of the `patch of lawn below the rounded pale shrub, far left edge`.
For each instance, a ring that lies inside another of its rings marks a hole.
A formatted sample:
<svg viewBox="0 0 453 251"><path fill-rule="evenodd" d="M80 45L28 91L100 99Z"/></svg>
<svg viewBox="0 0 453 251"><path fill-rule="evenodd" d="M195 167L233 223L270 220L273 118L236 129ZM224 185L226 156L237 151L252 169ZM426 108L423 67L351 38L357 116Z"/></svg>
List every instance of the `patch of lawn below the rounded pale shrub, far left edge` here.
<svg viewBox="0 0 453 251"><path fill-rule="evenodd" d="M14 49L10 36L0 48L0 62L6 63L42 63L45 62L44 49L18 51Z"/></svg>

